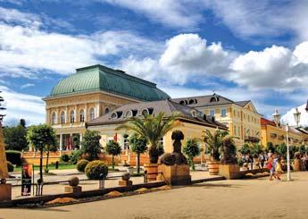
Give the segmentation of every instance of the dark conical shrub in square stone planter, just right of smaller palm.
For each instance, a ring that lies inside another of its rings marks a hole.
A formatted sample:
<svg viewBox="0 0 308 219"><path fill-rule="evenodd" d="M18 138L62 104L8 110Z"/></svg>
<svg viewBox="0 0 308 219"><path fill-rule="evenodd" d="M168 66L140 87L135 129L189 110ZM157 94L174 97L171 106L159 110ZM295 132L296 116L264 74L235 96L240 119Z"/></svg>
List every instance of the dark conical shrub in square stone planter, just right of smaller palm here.
<svg viewBox="0 0 308 219"><path fill-rule="evenodd" d="M231 138L222 140L219 173L229 180L240 178L239 165L237 165L237 147Z"/></svg>

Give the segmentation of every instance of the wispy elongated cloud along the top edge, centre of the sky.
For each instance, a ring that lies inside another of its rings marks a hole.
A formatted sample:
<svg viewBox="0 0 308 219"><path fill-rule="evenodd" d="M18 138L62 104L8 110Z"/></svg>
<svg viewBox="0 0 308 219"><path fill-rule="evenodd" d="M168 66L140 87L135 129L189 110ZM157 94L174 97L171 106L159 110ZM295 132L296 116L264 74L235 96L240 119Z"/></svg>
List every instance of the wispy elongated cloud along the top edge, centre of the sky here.
<svg viewBox="0 0 308 219"><path fill-rule="evenodd" d="M202 16L191 1L185 0L96 0L99 2L120 5L137 13L145 14L150 20L177 28L195 28ZM195 2L195 1L193 1Z"/></svg>

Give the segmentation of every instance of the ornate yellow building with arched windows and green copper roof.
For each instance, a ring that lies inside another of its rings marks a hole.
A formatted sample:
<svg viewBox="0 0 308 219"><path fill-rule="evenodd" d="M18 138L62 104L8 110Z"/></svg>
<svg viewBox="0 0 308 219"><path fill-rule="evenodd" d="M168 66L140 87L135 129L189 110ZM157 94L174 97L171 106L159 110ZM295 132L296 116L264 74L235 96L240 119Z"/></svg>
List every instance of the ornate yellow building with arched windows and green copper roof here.
<svg viewBox="0 0 308 219"><path fill-rule="evenodd" d="M59 140L59 149L79 147L86 123L129 103L170 98L156 84L103 65L76 70L60 80L46 102L46 124Z"/></svg>

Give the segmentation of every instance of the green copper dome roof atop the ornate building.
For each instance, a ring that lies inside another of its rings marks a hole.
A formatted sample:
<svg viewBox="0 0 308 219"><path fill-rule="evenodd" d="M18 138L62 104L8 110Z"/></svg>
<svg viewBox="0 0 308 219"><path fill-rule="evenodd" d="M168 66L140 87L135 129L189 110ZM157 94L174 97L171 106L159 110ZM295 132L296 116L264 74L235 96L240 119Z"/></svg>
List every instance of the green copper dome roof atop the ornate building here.
<svg viewBox="0 0 308 219"><path fill-rule="evenodd" d="M60 80L49 97L99 90L146 101L170 98L152 82L99 64L77 69L75 74Z"/></svg>

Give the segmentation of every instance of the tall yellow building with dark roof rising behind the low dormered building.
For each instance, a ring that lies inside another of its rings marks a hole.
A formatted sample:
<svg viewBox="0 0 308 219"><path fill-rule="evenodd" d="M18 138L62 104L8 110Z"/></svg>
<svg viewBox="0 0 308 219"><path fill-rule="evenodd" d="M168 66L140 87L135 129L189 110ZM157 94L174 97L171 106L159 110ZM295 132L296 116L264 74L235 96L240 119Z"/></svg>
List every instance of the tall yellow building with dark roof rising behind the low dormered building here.
<svg viewBox="0 0 308 219"><path fill-rule="evenodd" d="M252 101L232 101L213 94L201 97L176 98L180 105L189 105L229 127L229 134L237 137L237 146L245 142L259 142L261 137L261 114L258 114Z"/></svg>

